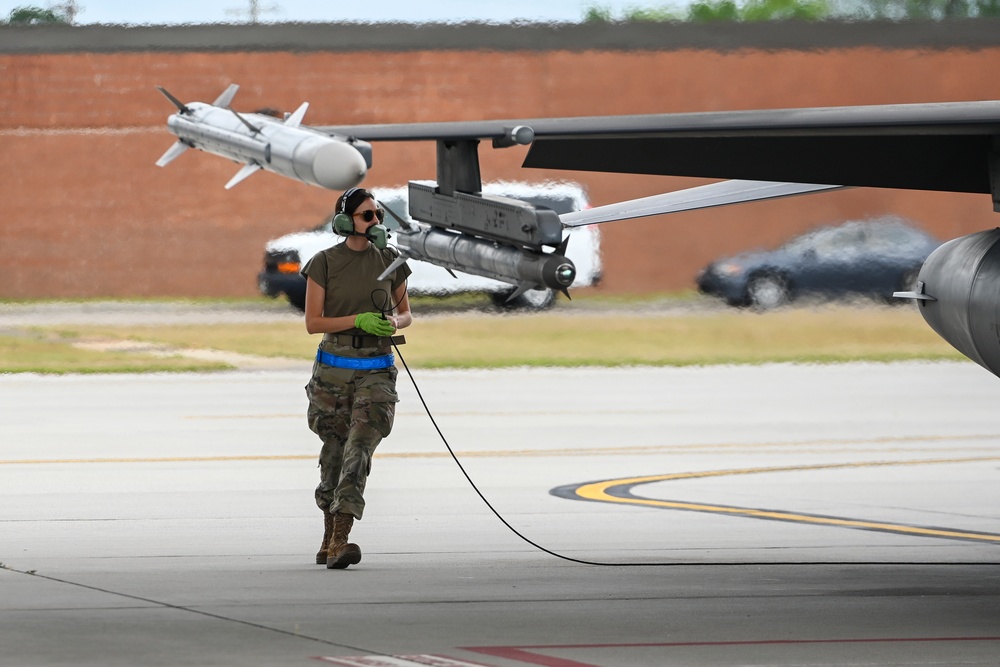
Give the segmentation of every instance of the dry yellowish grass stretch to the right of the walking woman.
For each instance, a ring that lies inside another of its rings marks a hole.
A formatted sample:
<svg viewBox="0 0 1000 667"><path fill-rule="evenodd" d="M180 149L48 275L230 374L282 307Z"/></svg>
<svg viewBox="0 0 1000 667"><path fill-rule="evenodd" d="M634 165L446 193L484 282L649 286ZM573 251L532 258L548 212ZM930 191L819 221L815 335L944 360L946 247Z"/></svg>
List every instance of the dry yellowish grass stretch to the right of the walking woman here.
<svg viewBox="0 0 1000 667"><path fill-rule="evenodd" d="M918 313L895 308L449 316L418 321L412 331L403 354L426 368L964 359Z"/></svg>

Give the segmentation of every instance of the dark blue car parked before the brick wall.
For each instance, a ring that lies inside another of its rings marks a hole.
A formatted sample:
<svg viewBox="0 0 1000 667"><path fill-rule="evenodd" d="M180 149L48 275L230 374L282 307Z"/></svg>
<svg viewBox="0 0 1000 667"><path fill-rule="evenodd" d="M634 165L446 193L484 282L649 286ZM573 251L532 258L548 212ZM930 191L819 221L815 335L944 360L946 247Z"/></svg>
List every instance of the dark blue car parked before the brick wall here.
<svg viewBox="0 0 1000 667"><path fill-rule="evenodd" d="M913 286L940 244L901 218L846 222L814 229L777 250L718 259L698 274L698 290L759 309L805 295L891 301L893 292Z"/></svg>

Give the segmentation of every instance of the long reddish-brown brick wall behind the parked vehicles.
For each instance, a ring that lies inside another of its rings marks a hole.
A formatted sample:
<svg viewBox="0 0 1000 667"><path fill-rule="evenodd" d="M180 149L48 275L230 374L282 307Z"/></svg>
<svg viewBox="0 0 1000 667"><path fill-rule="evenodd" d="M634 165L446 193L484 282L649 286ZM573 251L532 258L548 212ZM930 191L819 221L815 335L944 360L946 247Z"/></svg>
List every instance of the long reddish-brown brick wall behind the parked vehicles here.
<svg viewBox="0 0 1000 667"><path fill-rule="evenodd" d="M264 243L318 224L334 193L172 143L172 106L229 83L240 110L293 110L347 124L716 111L990 99L1000 46L817 50L96 51L0 53L0 299L248 296ZM572 179L592 203L690 179L528 171L523 148L481 149L486 180ZM430 143L376 144L368 185L434 178ZM985 195L852 190L602 227L603 293L693 286L721 254L810 227L896 213L941 238L996 225Z"/></svg>

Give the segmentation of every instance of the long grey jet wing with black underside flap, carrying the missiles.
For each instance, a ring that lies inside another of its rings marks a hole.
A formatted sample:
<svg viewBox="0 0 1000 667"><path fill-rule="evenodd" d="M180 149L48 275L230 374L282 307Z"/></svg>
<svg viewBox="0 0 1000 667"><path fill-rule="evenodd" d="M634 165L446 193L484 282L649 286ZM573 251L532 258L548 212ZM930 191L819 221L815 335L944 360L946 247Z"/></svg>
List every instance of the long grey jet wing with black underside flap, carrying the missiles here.
<svg viewBox="0 0 1000 667"><path fill-rule="evenodd" d="M989 193L1000 102L314 129L368 141L501 146L528 143L512 136L520 130L531 145L525 167Z"/></svg>

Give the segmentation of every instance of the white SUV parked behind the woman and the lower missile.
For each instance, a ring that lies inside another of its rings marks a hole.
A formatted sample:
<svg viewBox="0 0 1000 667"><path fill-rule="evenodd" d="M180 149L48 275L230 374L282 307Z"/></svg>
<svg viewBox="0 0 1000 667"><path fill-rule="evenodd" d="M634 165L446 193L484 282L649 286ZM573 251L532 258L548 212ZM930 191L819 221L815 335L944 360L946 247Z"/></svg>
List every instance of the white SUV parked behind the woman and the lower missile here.
<svg viewBox="0 0 1000 667"><path fill-rule="evenodd" d="M384 207L410 220L407 214L407 189L372 188L376 199ZM576 183L541 182L523 183L498 181L483 186L483 194L511 197L544 206L557 214L580 211L588 208L587 195ZM386 214L385 226L390 232L399 228L399 223ZM601 277L600 233L596 226L570 228L566 256L576 265L576 281L573 287L593 285ZM327 220L315 229L288 234L269 241L264 253L264 270L258 275L258 285L262 294L277 297L285 294L288 301L299 310L305 309L306 282L299 274L302 265L321 250L343 241L343 237L333 233L332 221ZM389 239L392 243L392 238ZM494 303L507 308L543 309L555 303L556 294L550 289L528 290L516 299L507 302L514 287L507 283L467 273L456 272L457 278L445 269L427 262L411 261L413 274L407 284L410 294L454 294L458 292L488 292Z"/></svg>

